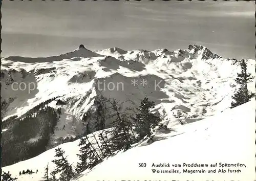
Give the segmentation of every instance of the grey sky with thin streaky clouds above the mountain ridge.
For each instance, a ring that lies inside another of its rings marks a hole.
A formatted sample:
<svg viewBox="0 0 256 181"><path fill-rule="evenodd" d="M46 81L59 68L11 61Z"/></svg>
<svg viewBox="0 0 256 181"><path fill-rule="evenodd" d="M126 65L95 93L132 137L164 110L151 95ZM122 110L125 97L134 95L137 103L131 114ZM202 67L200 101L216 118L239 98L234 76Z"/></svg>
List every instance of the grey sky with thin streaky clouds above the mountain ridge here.
<svg viewBox="0 0 256 181"><path fill-rule="evenodd" d="M235 1L3 1L2 57L87 49L187 49L255 59L255 4Z"/></svg>

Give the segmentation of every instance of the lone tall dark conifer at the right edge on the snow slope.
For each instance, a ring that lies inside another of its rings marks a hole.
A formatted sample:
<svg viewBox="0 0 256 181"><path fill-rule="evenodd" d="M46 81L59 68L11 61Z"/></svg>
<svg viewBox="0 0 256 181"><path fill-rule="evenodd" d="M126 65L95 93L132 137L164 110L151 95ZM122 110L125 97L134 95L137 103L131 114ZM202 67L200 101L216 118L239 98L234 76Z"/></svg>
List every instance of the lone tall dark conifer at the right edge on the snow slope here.
<svg viewBox="0 0 256 181"><path fill-rule="evenodd" d="M254 77L247 72L247 63L244 59L241 60L240 66L242 71L237 74L238 77L235 80L240 87L232 96L233 101L231 102L231 108L248 102L254 96L254 94L247 89L247 83L251 82Z"/></svg>

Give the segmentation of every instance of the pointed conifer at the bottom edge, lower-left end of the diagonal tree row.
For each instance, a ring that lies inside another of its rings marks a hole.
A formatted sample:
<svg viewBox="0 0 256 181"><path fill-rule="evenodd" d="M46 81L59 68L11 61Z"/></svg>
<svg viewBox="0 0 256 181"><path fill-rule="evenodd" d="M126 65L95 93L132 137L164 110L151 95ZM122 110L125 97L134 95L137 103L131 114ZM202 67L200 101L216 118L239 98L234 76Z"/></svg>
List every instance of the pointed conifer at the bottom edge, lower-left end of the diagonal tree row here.
<svg viewBox="0 0 256 181"><path fill-rule="evenodd" d="M75 175L72 166L68 163L67 156L64 155L65 151L61 148L57 148L55 152L55 157L58 158L52 161L56 165L55 173L60 172L60 181L68 181Z"/></svg>

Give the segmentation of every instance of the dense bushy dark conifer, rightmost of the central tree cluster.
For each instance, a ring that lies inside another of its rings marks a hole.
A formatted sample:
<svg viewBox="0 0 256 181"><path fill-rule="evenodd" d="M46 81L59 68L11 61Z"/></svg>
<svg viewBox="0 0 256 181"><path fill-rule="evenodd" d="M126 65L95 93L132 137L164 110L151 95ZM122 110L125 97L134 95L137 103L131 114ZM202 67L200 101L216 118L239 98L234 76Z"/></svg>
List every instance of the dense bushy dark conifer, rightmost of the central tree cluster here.
<svg viewBox="0 0 256 181"><path fill-rule="evenodd" d="M139 135L139 140L146 135L148 137L152 134L152 128L159 125L161 118L157 113L151 112L155 107L155 102L144 98L141 101L140 107L137 109L136 117L134 118L135 132Z"/></svg>

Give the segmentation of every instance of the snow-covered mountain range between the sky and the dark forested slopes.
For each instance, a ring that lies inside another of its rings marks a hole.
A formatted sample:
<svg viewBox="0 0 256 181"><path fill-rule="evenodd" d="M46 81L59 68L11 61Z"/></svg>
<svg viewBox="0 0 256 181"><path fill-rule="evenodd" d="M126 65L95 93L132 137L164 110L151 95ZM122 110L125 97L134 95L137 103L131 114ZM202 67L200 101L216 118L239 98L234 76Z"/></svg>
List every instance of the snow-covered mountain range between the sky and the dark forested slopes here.
<svg viewBox="0 0 256 181"><path fill-rule="evenodd" d="M7 57L2 59L4 120L59 97L69 100L62 106L63 119L77 122L93 104L97 92L135 103L146 95L170 118L171 109L180 110L186 117L212 115L229 107L236 90L234 79L240 71L236 62L197 45L189 45L187 50L152 52L119 48L92 52L80 46L47 58ZM254 74L255 60L248 63ZM138 80L136 86L133 79Z"/></svg>

